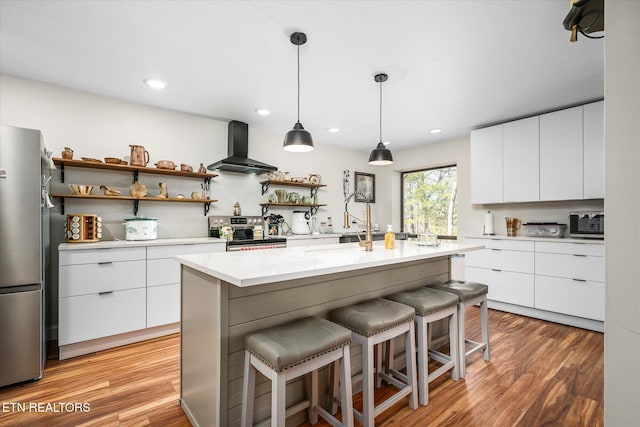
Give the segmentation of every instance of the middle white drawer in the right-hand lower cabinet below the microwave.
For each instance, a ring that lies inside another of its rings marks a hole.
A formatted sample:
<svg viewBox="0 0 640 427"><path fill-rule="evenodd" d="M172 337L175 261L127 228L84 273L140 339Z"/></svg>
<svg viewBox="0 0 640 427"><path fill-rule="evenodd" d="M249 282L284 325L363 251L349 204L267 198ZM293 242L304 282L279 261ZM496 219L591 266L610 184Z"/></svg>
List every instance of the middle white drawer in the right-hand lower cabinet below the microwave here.
<svg viewBox="0 0 640 427"><path fill-rule="evenodd" d="M536 253L536 275L604 282L604 258Z"/></svg>

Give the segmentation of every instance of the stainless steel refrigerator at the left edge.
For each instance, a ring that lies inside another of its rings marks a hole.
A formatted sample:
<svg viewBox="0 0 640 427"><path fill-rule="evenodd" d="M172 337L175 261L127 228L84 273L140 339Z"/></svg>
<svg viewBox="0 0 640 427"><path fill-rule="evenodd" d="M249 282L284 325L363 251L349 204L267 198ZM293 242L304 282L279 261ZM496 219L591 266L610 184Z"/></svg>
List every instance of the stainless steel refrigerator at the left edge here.
<svg viewBox="0 0 640 427"><path fill-rule="evenodd" d="M0 127L1 387L42 377L50 169L40 131Z"/></svg>

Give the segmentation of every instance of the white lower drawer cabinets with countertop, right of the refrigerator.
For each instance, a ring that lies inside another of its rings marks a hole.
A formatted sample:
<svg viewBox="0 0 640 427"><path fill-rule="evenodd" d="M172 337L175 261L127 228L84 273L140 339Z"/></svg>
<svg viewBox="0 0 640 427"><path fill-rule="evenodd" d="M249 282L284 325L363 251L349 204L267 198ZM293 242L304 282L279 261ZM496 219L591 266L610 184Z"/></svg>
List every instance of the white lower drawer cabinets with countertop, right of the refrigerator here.
<svg viewBox="0 0 640 427"><path fill-rule="evenodd" d="M180 264L174 257L225 249L224 243L198 243L61 250L59 345L179 322Z"/></svg>

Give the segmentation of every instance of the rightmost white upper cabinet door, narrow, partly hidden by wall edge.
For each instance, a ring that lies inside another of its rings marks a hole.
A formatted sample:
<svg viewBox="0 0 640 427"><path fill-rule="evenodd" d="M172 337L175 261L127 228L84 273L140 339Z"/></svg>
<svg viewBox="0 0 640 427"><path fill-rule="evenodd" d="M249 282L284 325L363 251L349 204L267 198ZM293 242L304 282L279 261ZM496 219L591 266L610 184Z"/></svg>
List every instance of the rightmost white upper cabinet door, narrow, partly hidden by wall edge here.
<svg viewBox="0 0 640 427"><path fill-rule="evenodd" d="M584 198L604 198L604 101L583 106Z"/></svg>

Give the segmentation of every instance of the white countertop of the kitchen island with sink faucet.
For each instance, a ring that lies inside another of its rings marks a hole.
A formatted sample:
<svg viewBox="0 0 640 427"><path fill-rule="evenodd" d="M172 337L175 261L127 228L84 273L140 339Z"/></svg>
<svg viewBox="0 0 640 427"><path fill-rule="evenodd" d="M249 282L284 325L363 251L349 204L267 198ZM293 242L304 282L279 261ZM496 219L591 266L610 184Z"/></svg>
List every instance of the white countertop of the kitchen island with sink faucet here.
<svg viewBox="0 0 640 427"><path fill-rule="evenodd" d="M396 241L395 249L374 242L367 252L357 243L313 247L281 248L178 256L178 262L239 287L282 280L301 279L408 261L454 255L483 245L442 243L438 247L418 246L414 241Z"/></svg>

